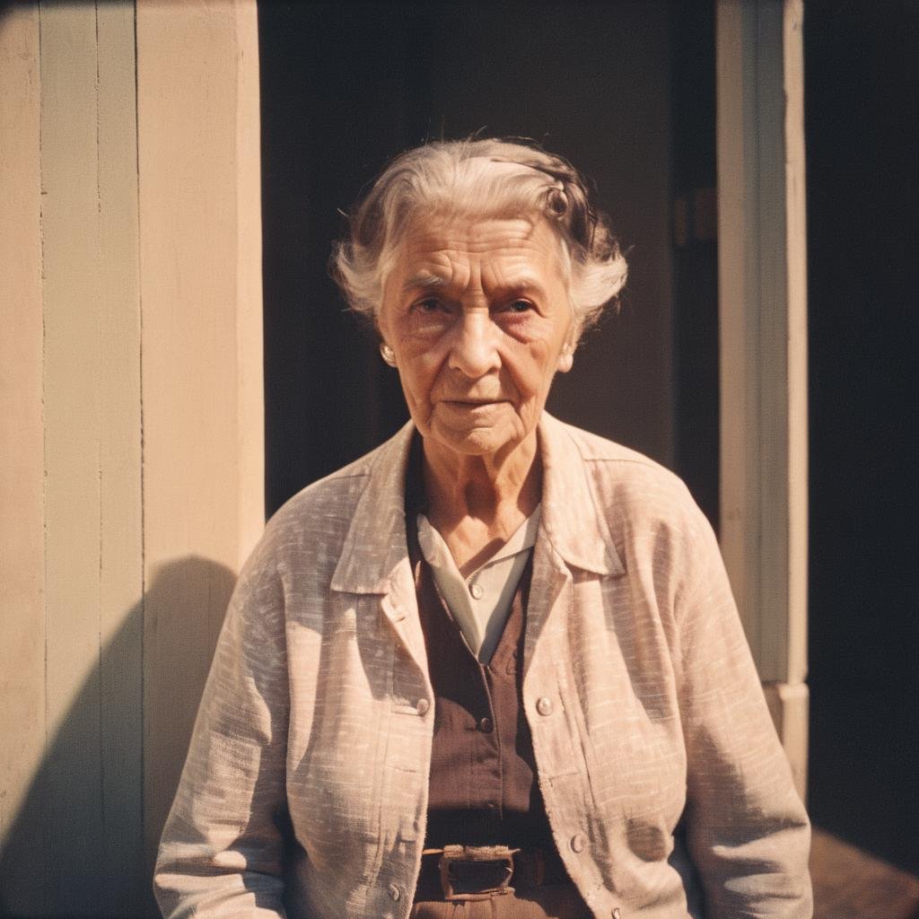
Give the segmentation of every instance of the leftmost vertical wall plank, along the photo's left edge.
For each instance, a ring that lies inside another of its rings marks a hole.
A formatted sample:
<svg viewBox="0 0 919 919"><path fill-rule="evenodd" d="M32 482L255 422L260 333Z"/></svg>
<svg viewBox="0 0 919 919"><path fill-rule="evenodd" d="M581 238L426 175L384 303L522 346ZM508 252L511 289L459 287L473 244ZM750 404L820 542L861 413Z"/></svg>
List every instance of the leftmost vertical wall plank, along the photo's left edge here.
<svg viewBox="0 0 919 919"><path fill-rule="evenodd" d="M24 834L45 748L45 619L40 238L39 11L0 22L0 901L41 878L40 839ZM40 894L40 891L38 891ZM39 895L36 906L41 909Z"/></svg>

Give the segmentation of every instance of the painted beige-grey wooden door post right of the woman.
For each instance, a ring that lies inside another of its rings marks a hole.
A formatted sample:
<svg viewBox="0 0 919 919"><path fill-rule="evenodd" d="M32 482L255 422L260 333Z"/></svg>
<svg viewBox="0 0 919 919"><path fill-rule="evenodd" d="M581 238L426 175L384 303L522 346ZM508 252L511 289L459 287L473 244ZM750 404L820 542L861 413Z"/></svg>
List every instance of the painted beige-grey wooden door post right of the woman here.
<svg viewBox="0 0 919 919"><path fill-rule="evenodd" d="M801 0L718 0L720 537L766 698L807 769Z"/></svg>

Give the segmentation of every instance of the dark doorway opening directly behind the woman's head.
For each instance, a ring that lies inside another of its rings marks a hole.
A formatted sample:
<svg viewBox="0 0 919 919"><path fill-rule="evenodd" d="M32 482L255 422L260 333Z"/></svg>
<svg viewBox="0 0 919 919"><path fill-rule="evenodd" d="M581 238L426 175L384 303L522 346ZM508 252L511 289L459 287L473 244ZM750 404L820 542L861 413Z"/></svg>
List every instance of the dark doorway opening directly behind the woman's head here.
<svg viewBox="0 0 919 919"><path fill-rule="evenodd" d="M338 210L395 153L473 131L532 137L571 159L596 182L600 206L629 250L621 312L589 336L573 372L556 381L550 410L671 467L688 458L688 478L712 512L717 362L703 369L701 385L698 368L717 354L714 300L697 296L708 316L673 322L675 157L690 192L713 184L690 175L688 148L674 140L680 81L671 49L681 6L259 5L269 512L376 446L406 416L394 372L380 361L373 335L344 312L326 273L344 226ZM682 26L690 18L682 14ZM700 21L705 51L686 46L684 62L701 64L710 74L703 82L713 86L708 6ZM709 130L712 150L713 104L709 88L680 96L680 124ZM705 156L713 170L713 155ZM713 247L709 240L712 266ZM698 266L684 262L681 277L692 284ZM696 358L682 346L687 333L701 342ZM679 382L695 390L692 401L675 401L677 367ZM681 427L677 404L699 417ZM702 433L690 443L693 427Z"/></svg>

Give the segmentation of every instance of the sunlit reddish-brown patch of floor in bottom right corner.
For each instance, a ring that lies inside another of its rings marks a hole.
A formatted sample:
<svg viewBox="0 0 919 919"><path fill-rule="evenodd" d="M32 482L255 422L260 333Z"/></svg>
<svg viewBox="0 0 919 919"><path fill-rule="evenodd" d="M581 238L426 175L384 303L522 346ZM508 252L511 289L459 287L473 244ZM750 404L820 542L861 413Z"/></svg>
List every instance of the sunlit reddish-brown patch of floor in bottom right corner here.
<svg viewBox="0 0 919 919"><path fill-rule="evenodd" d="M814 828L814 919L919 919L919 879Z"/></svg>

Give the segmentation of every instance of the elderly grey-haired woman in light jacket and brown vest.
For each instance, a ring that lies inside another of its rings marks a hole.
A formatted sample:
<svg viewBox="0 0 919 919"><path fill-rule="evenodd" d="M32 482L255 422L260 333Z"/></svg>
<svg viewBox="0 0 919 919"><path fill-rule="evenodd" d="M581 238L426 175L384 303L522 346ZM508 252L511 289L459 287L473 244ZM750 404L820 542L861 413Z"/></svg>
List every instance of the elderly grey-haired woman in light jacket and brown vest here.
<svg viewBox="0 0 919 919"><path fill-rule="evenodd" d="M410 151L335 270L412 420L244 568L165 915L806 919L807 817L709 526L544 412L626 275L581 177L518 143Z"/></svg>

